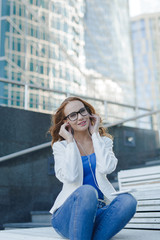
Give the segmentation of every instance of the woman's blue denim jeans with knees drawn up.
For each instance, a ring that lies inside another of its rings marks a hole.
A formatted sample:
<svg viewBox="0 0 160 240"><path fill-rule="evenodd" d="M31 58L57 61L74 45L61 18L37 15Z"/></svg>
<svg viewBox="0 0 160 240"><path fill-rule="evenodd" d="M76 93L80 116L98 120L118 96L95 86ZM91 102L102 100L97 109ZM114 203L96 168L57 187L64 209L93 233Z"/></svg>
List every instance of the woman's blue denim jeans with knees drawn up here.
<svg viewBox="0 0 160 240"><path fill-rule="evenodd" d="M135 198L124 193L99 208L97 191L90 185L83 185L53 213L52 226L70 240L108 240L129 222L136 205Z"/></svg>

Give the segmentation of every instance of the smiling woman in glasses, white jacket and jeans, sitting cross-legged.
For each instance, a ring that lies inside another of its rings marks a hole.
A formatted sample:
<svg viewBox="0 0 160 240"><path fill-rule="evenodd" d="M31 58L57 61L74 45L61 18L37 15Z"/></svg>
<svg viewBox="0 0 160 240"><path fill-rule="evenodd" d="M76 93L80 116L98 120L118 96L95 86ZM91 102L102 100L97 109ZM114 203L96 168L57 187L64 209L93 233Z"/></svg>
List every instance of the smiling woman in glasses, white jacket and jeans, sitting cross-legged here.
<svg viewBox="0 0 160 240"><path fill-rule="evenodd" d="M108 240L136 211L132 195L111 195L115 190L106 176L115 170L117 159L100 122L93 106L69 97L50 128L56 177L63 183L50 210L52 225L71 240Z"/></svg>

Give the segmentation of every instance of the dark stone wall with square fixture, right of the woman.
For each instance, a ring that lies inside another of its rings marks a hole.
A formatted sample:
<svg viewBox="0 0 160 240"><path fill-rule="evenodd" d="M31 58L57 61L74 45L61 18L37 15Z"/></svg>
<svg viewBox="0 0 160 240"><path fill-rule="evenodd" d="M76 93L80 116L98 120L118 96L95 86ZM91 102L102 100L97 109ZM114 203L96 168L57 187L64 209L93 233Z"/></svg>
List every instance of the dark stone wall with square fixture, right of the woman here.
<svg viewBox="0 0 160 240"><path fill-rule="evenodd" d="M118 158L116 172L122 169L143 167L148 161L160 159L159 134L153 130L114 127L114 152Z"/></svg>

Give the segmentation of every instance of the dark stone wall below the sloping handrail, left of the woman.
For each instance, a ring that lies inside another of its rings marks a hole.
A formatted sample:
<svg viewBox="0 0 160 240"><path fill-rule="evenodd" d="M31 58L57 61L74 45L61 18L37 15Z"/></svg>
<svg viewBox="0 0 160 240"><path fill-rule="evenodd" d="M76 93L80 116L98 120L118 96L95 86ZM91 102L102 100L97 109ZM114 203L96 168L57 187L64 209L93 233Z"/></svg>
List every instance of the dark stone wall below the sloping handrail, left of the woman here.
<svg viewBox="0 0 160 240"><path fill-rule="evenodd" d="M61 183L49 172L51 150L0 163L0 223L28 222L30 211L49 210Z"/></svg>

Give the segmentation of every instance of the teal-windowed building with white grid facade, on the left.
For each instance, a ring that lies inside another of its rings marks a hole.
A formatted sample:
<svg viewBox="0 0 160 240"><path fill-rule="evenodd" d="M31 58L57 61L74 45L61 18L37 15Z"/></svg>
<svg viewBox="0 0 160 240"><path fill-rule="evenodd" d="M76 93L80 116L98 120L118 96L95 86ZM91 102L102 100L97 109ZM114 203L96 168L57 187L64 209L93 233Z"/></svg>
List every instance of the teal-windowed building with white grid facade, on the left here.
<svg viewBox="0 0 160 240"><path fill-rule="evenodd" d="M52 111L64 91L85 94L84 9L84 0L0 0L2 105Z"/></svg>

